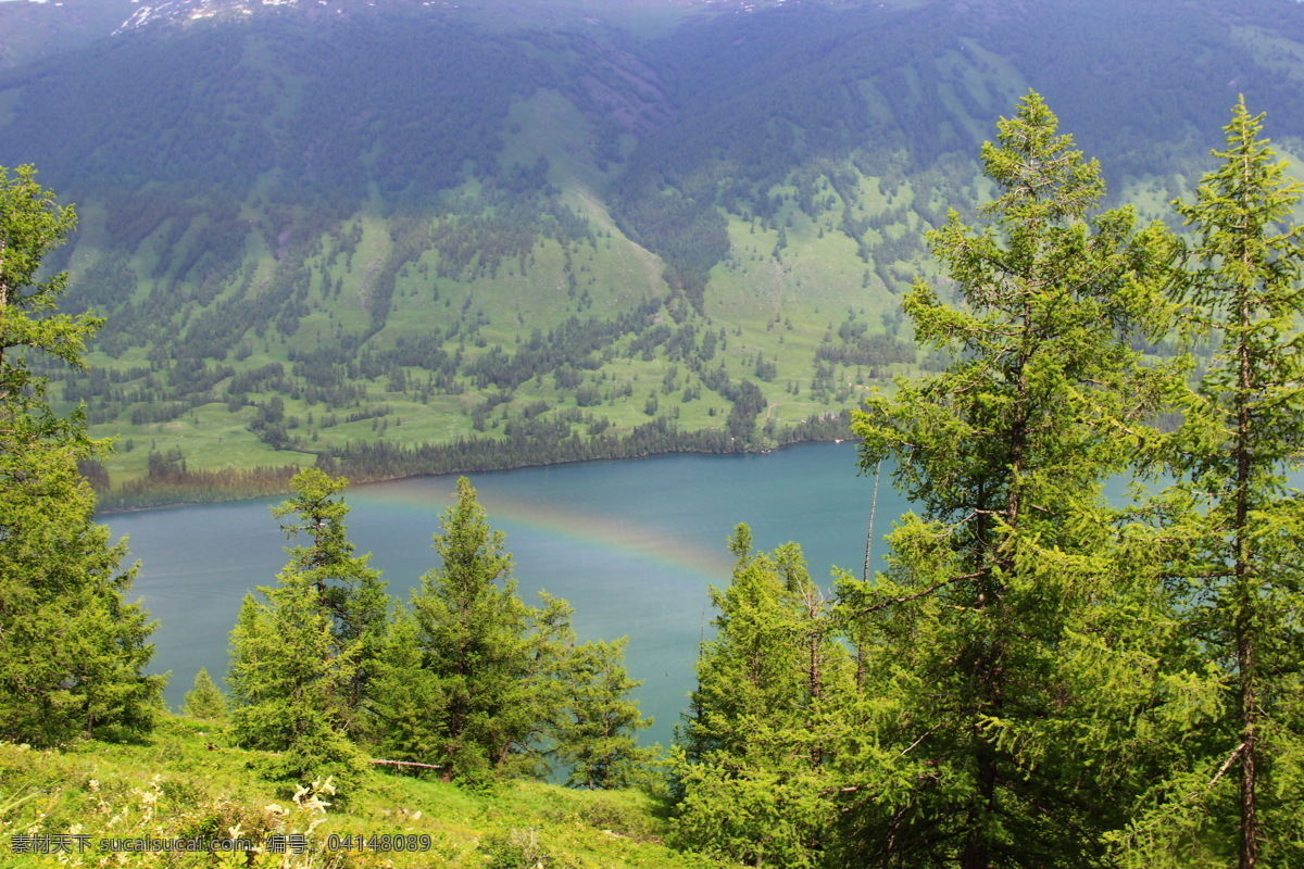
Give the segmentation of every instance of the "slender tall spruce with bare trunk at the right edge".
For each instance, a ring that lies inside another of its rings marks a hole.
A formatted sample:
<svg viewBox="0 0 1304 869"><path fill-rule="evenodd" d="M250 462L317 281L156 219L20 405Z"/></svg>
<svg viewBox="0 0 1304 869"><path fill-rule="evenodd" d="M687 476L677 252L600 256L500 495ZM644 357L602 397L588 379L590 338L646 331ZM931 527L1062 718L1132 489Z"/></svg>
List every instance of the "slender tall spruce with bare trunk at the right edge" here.
<svg viewBox="0 0 1304 869"><path fill-rule="evenodd" d="M1262 115L1240 100L1224 129L1218 168L1175 203L1197 236L1181 301L1222 343L1175 439L1162 533L1189 545L1170 581L1226 701L1131 842L1137 862L1201 848L1251 869L1304 864L1304 498L1286 477L1304 455L1304 228Z"/></svg>

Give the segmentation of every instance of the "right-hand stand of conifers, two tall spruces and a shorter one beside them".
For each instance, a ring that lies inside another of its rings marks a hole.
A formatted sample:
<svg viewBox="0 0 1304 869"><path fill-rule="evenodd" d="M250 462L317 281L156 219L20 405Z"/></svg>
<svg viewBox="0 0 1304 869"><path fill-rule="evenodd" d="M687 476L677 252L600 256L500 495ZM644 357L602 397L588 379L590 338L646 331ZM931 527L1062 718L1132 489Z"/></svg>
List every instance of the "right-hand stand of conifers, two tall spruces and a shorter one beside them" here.
<svg viewBox="0 0 1304 869"><path fill-rule="evenodd" d="M928 235L945 350L855 413L915 509L878 576L747 528L672 765L674 842L745 865L1290 866L1304 805L1301 188L1244 103L1175 203L1097 211L1037 94L995 198ZM1193 373L1192 341L1221 335ZM1133 345L1185 348L1148 361ZM1166 431L1155 426L1178 414ZM1102 485L1149 487L1110 504Z"/></svg>

